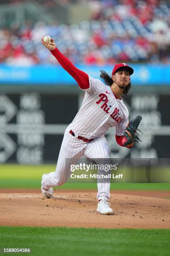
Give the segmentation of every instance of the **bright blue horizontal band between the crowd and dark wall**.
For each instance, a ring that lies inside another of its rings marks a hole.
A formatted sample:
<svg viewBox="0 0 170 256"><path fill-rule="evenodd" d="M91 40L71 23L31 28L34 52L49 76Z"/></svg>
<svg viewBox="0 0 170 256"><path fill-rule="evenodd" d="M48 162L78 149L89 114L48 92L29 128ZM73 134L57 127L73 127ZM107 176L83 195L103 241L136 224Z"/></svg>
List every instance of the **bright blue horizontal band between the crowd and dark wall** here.
<svg viewBox="0 0 170 256"><path fill-rule="evenodd" d="M133 84L163 86L170 85L170 65L168 64L130 64L135 70L131 76ZM91 77L100 79L100 70L112 73L112 66L77 66ZM31 67L15 67L0 65L0 84L76 84L75 80L60 66L35 65Z"/></svg>

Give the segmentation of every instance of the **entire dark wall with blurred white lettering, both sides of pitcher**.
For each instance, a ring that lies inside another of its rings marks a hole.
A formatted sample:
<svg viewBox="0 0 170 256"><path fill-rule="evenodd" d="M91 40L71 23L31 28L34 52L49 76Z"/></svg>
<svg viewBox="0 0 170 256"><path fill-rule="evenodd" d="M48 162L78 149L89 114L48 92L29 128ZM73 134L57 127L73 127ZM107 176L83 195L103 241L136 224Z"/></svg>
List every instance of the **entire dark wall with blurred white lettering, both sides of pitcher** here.
<svg viewBox="0 0 170 256"><path fill-rule="evenodd" d="M83 99L83 95L82 95ZM115 129L106 133L111 158L169 158L170 95L133 94L124 100L130 120L137 115L142 143L120 147ZM0 95L0 163L57 163L65 128L77 114L79 95L24 92Z"/></svg>

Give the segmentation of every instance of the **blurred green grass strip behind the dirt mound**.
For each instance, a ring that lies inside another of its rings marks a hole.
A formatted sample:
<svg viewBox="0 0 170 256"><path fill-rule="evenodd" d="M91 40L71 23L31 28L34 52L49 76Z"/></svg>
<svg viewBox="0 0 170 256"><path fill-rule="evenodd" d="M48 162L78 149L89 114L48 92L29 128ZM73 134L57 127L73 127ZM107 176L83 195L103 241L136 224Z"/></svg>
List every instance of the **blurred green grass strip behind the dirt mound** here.
<svg viewBox="0 0 170 256"><path fill-rule="evenodd" d="M44 173L54 172L55 165L0 165L0 188L40 188ZM96 183L66 183L57 189L96 189ZM170 183L112 183L111 189L170 190Z"/></svg>

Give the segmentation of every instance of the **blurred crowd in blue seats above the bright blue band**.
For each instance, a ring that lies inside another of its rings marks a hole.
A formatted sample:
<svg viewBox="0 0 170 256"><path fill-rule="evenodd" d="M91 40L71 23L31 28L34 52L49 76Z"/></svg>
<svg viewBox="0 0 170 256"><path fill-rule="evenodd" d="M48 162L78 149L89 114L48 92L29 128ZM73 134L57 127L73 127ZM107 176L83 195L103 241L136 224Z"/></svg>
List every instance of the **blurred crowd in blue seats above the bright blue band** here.
<svg viewBox="0 0 170 256"><path fill-rule="evenodd" d="M53 1L38 0L42 3ZM3 2L3 1L2 1ZM6 1L7 2L7 1ZM19 0L8 0L18 3ZM60 0L76 4L77 0ZM57 64L41 45L50 35L75 64L114 64L117 61L170 63L170 4L158 0L82 0L91 19L67 26L42 21L0 28L0 62L10 65Z"/></svg>

